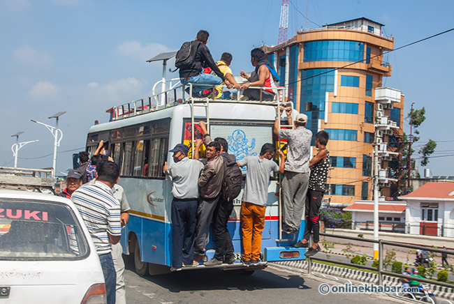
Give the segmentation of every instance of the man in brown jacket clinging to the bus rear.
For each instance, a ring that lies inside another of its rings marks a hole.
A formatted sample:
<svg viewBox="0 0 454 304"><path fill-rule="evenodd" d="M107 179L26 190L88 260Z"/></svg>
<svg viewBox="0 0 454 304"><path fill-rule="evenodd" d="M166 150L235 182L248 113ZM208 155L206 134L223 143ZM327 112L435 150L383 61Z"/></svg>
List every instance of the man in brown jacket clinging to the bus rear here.
<svg viewBox="0 0 454 304"><path fill-rule="evenodd" d="M194 250L199 254L205 253L208 228L213 217L214 209L219 201L222 181L224 180L224 162L219 156L221 145L219 142L210 142L207 145L207 163L198 178L200 200L197 209L196 241Z"/></svg>

